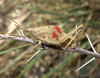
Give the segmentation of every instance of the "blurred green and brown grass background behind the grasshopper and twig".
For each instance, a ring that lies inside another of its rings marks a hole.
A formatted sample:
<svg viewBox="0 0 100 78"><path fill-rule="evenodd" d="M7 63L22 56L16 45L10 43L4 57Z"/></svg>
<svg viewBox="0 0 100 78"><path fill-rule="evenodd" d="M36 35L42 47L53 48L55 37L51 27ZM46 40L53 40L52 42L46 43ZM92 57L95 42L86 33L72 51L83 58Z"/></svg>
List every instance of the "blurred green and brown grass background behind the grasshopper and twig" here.
<svg viewBox="0 0 100 78"><path fill-rule="evenodd" d="M26 29L57 25L65 33L83 24L78 46L92 51L87 33L100 53L100 0L0 0L0 34L18 35L11 19ZM0 78L100 78L99 59L73 73L93 58L80 53L44 50L24 66L33 55L25 54L31 48L25 42L0 40Z"/></svg>

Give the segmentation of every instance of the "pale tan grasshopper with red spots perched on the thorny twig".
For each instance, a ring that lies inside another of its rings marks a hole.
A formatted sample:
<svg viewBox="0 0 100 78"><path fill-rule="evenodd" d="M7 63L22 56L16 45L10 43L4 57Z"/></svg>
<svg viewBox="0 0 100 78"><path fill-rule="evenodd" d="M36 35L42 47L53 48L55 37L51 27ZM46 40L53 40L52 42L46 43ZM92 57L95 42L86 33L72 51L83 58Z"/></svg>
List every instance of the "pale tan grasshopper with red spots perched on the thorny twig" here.
<svg viewBox="0 0 100 78"><path fill-rule="evenodd" d="M76 35L83 28L83 25L80 25L77 29L74 29L73 31L66 34L63 31L61 31L61 29L58 26L41 26L37 28L25 29L17 22L15 23L22 30L26 31L33 41L38 43L33 47L33 50L37 48L40 44L46 44L55 47L64 47L67 49L68 47L71 47L71 44L75 43L74 39ZM75 35L73 36L73 34Z"/></svg>

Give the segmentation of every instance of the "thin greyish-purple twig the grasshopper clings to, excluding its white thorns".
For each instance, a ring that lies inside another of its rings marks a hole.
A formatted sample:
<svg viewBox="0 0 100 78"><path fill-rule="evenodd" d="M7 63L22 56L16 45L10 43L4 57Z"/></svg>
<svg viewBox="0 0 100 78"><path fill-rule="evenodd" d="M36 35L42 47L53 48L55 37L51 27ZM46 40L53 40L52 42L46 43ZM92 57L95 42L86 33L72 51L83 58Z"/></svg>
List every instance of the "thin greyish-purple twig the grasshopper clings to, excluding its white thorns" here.
<svg viewBox="0 0 100 78"><path fill-rule="evenodd" d="M27 37L22 37L22 36L16 37L16 36L7 36L7 35L0 34L0 38L1 39L19 40L19 41L28 42L28 43L31 43L31 44L36 44L32 39L29 39ZM53 47L48 47L46 45L45 45L45 47L46 47L46 49L55 49ZM96 57L96 58L100 58L100 54L94 53L94 52L91 52L91 51L87 51L87 50L84 50L84 49L80 49L80 48L65 49L64 47L60 47L60 48L57 48L57 49L58 50L64 50L64 51L78 52L78 53L90 55L90 56L93 56L93 57ZM42 49L42 50L44 50L44 49Z"/></svg>

